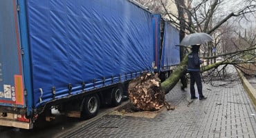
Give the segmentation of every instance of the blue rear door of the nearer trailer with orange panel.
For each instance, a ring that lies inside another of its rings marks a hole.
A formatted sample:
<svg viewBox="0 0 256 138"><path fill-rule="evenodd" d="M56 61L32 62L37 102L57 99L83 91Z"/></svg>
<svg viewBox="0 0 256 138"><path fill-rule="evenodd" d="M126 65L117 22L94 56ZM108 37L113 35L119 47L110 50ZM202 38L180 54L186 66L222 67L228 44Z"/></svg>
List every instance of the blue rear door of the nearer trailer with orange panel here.
<svg viewBox="0 0 256 138"><path fill-rule="evenodd" d="M0 106L24 107L17 0L0 1Z"/></svg>

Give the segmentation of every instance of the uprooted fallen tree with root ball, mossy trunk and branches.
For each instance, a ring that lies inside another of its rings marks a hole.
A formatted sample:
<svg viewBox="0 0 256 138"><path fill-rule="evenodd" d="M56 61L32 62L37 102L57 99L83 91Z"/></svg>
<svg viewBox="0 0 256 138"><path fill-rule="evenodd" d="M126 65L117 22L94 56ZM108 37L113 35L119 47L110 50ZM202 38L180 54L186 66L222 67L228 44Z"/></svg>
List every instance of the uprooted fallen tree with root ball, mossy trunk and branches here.
<svg viewBox="0 0 256 138"><path fill-rule="evenodd" d="M237 52L231 52L230 55L237 53L244 53L248 50L255 50L256 48L250 48L246 50L239 50ZM226 54L228 55L228 54ZM218 63L213 63L209 66L201 68L201 72L208 70L216 69L221 65L234 65L239 64L237 61L231 58ZM214 58L214 57L213 57ZM210 59L207 58L207 59ZM159 110L161 107L166 106L167 109L174 109L174 106L170 106L169 103L165 101L165 94L169 93L176 83L179 82L181 76L187 73L187 63L188 55L185 56L183 61L175 68L170 77L161 83L161 80L158 79L157 75L144 73L140 77L130 81L129 83L129 99L131 103L134 104L139 110ZM240 62L245 63L245 62Z"/></svg>

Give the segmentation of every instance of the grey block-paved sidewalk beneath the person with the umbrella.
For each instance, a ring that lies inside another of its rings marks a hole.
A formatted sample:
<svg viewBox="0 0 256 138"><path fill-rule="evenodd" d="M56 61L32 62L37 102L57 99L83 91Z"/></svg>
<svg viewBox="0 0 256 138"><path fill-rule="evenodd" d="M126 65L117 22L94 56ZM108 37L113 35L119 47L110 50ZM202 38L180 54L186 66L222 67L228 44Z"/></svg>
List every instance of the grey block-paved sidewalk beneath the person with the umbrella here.
<svg viewBox="0 0 256 138"><path fill-rule="evenodd" d="M62 137L256 137L256 112L235 72L203 83L206 100L188 104L179 84L166 95L177 108L154 119L105 115Z"/></svg>

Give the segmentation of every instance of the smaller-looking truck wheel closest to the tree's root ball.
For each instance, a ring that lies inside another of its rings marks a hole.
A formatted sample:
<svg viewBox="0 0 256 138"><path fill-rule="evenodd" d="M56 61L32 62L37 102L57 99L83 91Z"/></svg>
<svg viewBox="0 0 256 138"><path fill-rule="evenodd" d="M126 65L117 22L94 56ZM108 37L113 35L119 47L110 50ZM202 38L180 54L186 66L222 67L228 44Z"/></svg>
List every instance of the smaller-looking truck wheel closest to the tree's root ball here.
<svg viewBox="0 0 256 138"><path fill-rule="evenodd" d="M119 106L122 103L122 87L118 86L112 89L112 106Z"/></svg>

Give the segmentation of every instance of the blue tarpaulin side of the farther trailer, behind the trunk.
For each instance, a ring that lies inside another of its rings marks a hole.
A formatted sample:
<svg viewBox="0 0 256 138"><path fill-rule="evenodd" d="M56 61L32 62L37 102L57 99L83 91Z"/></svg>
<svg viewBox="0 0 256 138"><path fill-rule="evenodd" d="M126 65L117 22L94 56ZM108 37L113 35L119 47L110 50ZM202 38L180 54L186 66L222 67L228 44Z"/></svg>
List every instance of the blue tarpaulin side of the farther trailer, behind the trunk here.
<svg viewBox="0 0 256 138"><path fill-rule="evenodd" d="M163 38L163 51L161 59L161 69L179 64L179 30L165 21L165 34Z"/></svg>

